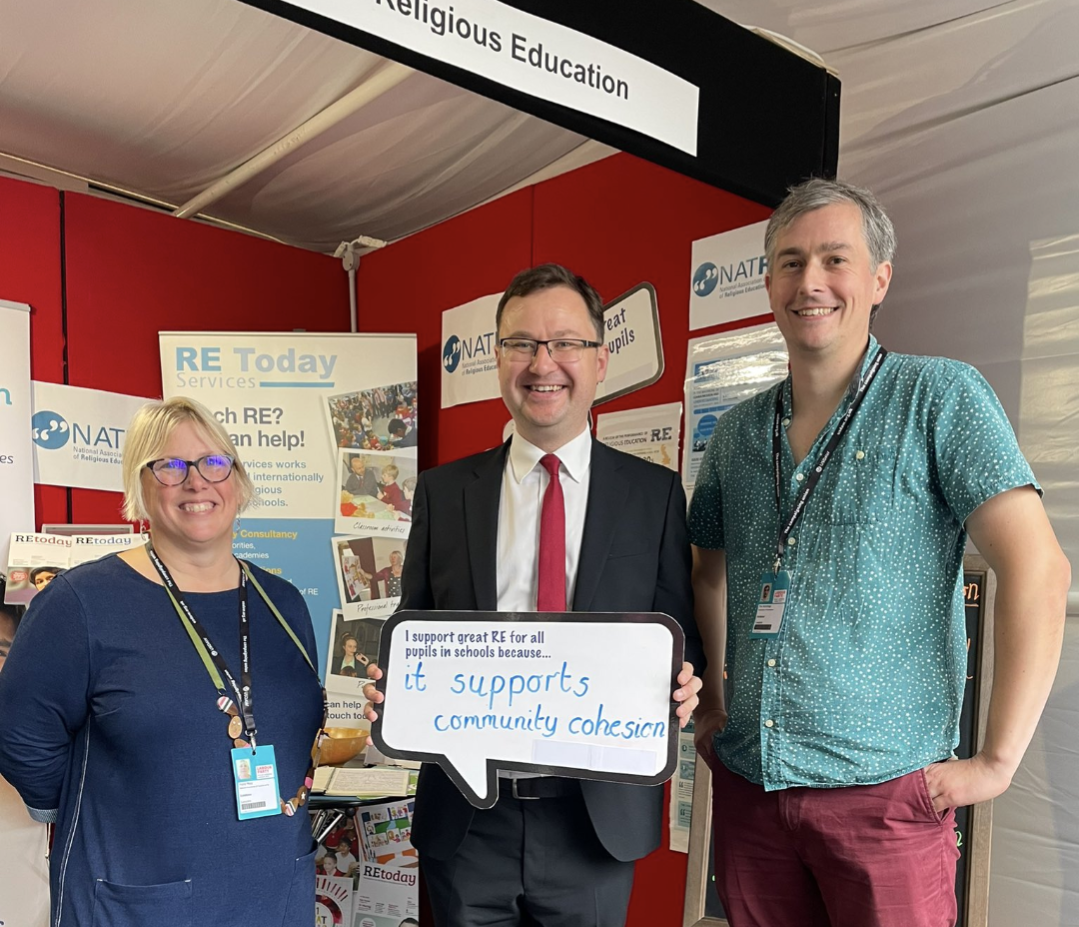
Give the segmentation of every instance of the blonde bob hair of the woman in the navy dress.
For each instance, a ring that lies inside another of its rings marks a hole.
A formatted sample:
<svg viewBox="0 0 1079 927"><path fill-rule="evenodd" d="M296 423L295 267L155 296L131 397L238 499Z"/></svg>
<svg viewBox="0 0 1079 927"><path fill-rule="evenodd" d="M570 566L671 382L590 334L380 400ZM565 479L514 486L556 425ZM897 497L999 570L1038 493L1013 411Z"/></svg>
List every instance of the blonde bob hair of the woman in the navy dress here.
<svg viewBox="0 0 1079 927"><path fill-rule="evenodd" d="M141 521L149 515L142 495L142 467L162 456L165 445L177 426L194 425L207 444L233 460L229 479L236 483L236 514L256 502L255 485L236 454L236 446L221 423L202 403L174 396L164 403L147 403L135 413L124 440L123 515L128 521Z"/></svg>

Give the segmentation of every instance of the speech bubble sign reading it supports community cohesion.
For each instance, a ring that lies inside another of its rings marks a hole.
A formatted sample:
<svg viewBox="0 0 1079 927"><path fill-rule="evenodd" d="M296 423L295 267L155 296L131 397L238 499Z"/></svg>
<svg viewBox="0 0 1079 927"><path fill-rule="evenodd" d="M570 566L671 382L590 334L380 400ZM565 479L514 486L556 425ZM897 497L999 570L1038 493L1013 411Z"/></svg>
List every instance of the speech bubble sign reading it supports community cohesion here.
<svg viewBox="0 0 1079 927"><path fill-rule="evenodd" d="M658 785L678 762L684 647L660 613L398 612L371 737L437 763L478 808L500 769Z"/></svg>

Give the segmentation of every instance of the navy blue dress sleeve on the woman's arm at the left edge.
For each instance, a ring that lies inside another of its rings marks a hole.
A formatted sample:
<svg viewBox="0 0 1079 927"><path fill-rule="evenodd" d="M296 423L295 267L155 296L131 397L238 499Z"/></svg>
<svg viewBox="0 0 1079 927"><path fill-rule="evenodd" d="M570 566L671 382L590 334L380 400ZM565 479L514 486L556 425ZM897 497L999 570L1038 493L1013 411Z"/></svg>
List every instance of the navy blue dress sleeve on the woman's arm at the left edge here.
<svg viewBox="0 0 1079 927"><path fill-rule="evenodd" d="M90 644L78 595L57 576L30 603L0 672L0 775L36 820L53 820L90 713Z"/></svg>

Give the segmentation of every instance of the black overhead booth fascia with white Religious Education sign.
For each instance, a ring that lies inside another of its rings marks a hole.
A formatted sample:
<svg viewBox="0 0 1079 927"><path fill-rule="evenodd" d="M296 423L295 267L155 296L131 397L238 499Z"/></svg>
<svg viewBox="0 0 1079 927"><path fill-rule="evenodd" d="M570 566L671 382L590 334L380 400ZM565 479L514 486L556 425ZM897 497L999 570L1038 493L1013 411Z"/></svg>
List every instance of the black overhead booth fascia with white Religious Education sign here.
<svg viewBox="0 0 1079 927"><path fill-rule="evenodd" d="M838 79L699 0L242 2L759 203L835 176Z"/></svg>

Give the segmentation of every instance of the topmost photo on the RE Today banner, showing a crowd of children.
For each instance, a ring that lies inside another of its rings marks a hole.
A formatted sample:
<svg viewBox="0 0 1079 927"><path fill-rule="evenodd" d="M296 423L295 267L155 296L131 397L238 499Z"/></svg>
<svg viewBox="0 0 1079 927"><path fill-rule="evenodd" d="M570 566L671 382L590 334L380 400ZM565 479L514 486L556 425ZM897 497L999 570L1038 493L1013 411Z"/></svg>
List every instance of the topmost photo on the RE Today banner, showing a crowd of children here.
<svg viewBox="0 0 1079 927"><path fill-rule="evenodd" d="M416 446L416 384L395 383L328 397L330 434L339 448L384 451Z"/></svg>

